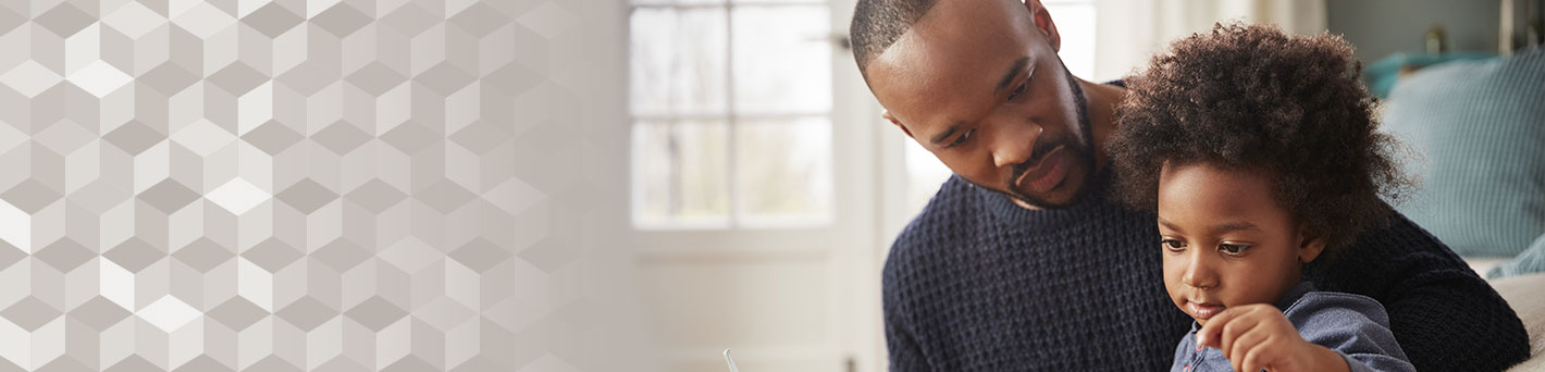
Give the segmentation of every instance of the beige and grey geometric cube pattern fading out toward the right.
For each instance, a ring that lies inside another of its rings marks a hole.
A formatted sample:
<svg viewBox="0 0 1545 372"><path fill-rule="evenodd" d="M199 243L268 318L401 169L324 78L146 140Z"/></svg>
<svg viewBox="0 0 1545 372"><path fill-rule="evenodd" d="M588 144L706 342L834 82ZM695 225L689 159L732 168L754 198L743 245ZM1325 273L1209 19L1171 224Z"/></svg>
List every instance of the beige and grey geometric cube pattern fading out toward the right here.
<svg viewBox="0 0 1545 372"><path fill-rule="evenodd" d="M513 102L567 12L0 2L0 370L562 364L513 352L572 261L524 255Z"/></svg>

